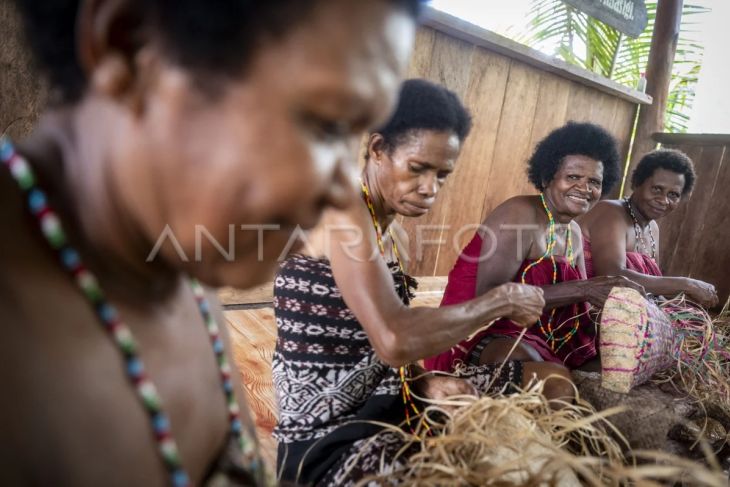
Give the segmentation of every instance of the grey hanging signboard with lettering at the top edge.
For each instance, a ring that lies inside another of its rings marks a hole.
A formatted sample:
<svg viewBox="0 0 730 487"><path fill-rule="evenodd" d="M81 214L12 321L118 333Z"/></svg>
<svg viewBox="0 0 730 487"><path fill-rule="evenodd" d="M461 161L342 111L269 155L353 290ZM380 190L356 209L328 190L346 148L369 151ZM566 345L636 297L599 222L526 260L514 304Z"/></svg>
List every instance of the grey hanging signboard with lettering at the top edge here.
<svg viewBox="0 0 730 487"><path fill-rule="evenodd" d="M648 21L644 0L563 1L631 37L638 37Z"/></svg>

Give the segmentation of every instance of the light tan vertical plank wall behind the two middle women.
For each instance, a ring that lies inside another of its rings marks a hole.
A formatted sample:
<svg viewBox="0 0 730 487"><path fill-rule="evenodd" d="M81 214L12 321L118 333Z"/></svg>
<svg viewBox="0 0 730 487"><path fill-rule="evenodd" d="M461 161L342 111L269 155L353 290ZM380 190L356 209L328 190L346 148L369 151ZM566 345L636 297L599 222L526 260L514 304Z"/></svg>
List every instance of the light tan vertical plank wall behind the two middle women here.
<svg viewBox="0 0 730 487"><path fill-rule="evenodd" d="M475 226L495 206L535 192L525 163L552 129L569 120L594 122L618 139L624 159L628 153L636 104L431 27L418 30L408 77L455 91L474 119L456 170L433 209L401 220L410 236L415 275L446 275Z"/></svg>

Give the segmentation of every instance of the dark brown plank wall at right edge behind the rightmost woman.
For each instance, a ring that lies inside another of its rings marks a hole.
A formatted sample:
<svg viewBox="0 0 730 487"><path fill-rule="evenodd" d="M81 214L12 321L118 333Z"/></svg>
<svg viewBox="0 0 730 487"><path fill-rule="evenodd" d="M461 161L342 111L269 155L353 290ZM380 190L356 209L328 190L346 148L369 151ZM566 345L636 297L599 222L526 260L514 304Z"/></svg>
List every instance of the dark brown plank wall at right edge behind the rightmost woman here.
<svg viewBox="0 0 730 487"><path fill-rule="evenodd" d="M730 297L730 135L657 134L662 147L684 151L697 182L689 199L659 220L659 261L667 275L717 287L720 305Z"/></svg>

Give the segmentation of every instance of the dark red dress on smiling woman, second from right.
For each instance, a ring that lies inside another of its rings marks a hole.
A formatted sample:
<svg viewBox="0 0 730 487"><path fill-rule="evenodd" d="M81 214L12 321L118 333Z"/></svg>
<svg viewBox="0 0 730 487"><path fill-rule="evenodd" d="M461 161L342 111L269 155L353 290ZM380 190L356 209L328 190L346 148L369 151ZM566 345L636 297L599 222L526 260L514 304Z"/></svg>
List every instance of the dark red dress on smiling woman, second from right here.
<svg viewBox="0 0 730 487"><path fill-rule="evenodd" d="M450 304L463 303L473 299L476 294L477 269L479 266L478 258L481 253L482 238L479 234L469 244L464 247L461 255L456 261L456 265L449 272L449 280L444 291L444 297L441 306ZM522 271L533 260L526 259L517 274L514 282L520 282ZM557 265L557 282L574 281L581 279L580 272L577 268L571 266L567 259L563 256L556 256L555 263ZM527 284L535 286L550 285L553 282L553 266L549 259L543 260L540 264L532 267L525 276ZM562 337L568 333L575 323L575 316L580 315L577 319L578 331L568 340L562 347L556 345L553 350L548 344L545 334L540 330L540 326L535 324L528 329L522 341L532 346L545 361L564 364L570 368L576 368L596 356L595 347L595 326L587 316L587 305L578 303L577 305L569 305L555 309L555 315L552 319L552 327L556 337ZM540 321L546 326L551 312L548 311L542 315ZM509 337L517 337L522 332L522 327L513 323L508 319L496 321L487 330L477 333L471 340L464 340L440 355L428 358L424 361L427 369L430 370L452 370L457 361L467 361L469 353L474 346L488 335L502 335Z"/></svg>

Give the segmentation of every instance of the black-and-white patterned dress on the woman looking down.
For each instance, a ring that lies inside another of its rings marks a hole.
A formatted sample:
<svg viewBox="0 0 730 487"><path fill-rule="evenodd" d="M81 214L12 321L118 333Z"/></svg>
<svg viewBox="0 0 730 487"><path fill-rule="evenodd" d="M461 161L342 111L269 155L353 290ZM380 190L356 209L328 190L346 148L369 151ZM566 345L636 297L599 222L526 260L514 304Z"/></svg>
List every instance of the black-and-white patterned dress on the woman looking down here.
<svg viewBox="0 0 730 487"><path fill-rule="evenodd" d="M397 265L390 269L396 292L407 303L404 276ZM329 261L301 255L286 260L274 281L274 309L273 379L279 404L274 437L280 480L353 485L367 475L386 473L383 465L399 465L393 458L404 439L382 433L373 438L383 429L373 422L404 422L398 370L376 355L342 299ZM510 362L502 369L500 385L514 378L514 367L519 364ZM492 371L473 368L466 378L485 391Z"/></svg>

